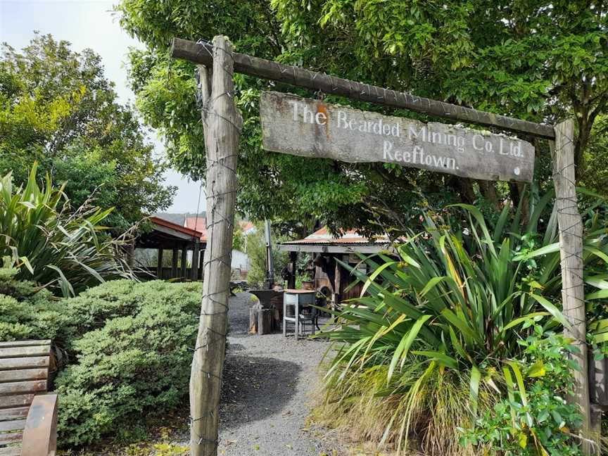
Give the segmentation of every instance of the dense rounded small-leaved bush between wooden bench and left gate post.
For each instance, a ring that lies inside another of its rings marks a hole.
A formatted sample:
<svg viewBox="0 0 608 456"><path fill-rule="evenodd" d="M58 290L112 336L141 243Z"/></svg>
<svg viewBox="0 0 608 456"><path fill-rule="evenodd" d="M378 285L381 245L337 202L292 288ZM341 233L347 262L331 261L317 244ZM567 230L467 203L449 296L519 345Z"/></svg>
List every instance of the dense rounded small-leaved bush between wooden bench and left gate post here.
<svg viewBox="0 0 608 456"><path fill-rule="evenodd" d="M110 281L62 303L72 315L82 312L71 329L75 359L56 379L62 445L91 443L184 398L200 284Z"/></svg>

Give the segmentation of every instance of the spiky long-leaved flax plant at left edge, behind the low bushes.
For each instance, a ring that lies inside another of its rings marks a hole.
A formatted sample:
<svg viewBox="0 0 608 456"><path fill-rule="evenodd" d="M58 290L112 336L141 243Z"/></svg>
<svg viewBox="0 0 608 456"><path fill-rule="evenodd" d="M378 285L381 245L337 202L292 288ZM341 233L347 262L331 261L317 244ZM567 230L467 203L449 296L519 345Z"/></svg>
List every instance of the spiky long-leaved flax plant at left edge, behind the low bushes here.
<svg viewBox="0 0 608 456"><path fill-rule="evenodd" d="M50 177L42 189L34 163L23 189L11 174L0 178L0 257L20 267L18 279L36 281L64 296L111 277L131 277L116 241L101 225L111 209L81 207L68 213L63 186Z"/></svg>

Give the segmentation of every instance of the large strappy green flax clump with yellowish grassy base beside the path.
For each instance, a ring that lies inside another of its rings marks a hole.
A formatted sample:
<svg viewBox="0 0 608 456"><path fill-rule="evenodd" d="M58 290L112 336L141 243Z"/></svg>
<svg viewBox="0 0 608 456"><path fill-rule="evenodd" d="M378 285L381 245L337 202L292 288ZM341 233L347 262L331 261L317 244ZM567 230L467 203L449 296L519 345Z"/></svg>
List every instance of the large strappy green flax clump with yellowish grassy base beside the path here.
<svg viewBox="0 0 608 456"><path fill-rule="evenodd" d="M473 429L505 398L517 407L531 384L522 341L535 327L544 333L568 324L559 308L555 211L537 232L551 198L537 202L525 227L520 210L507 223L505 208L492 232L477 208L457 205L466 230L451 229L450 215L426 217L426 232L407 236L393 254L362 257L369 275L342 263L364 285L362 297L338 312L341 324L324 331L338 350L322 419L380 446L391 443L400 454L412 447L483 454L483 445L463 447L457 429ZM593 277L606 271L605 232L595 225L586 232L585 267ZM528 423L519 417L509 435L538 443L533 416Z"/></svg>

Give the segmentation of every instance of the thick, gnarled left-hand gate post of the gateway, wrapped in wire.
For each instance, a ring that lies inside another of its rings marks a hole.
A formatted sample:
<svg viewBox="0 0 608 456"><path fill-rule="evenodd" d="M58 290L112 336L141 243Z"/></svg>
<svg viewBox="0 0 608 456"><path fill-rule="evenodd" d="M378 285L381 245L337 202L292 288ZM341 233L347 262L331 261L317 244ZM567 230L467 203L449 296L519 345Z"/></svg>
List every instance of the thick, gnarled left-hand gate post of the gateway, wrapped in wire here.
<svg viewBox="0 0 608 456"><path fill-rule="evenodd" d="M213 39L213 77L199 68L207 174L203 302L190 376L192 456L217 456L220 388L226 350L236 159L242 120L234 105L234 60L226 37ZM211 79L211 81L210 81Z"/></svg>

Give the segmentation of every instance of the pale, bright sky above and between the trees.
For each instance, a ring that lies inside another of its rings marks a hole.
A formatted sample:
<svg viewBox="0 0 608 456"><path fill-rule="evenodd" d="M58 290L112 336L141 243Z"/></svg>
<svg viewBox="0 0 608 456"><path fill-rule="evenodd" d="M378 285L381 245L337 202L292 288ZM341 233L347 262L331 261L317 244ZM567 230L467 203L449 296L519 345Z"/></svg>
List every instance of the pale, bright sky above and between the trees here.
<svg viewBox="0 0 608 456"><path fill-rule="evenodd" d="M67 40L74 51L91 48L101 56L106 77L115 82L120 102L133 103L135 96L127 86L127 51L129 46L143 49L144 45L120 28L118 15L113 12L116 3L117 0L0 0L0 42L22 49L37 30L50 33L55 39ZM164 154L163 144L155 132L151 132L150 139L156 153ZM167 172L165 184L178 187L167 212L196 212L198 183L171 170ZM205 210L204 196L200 210Z"/></svg>

